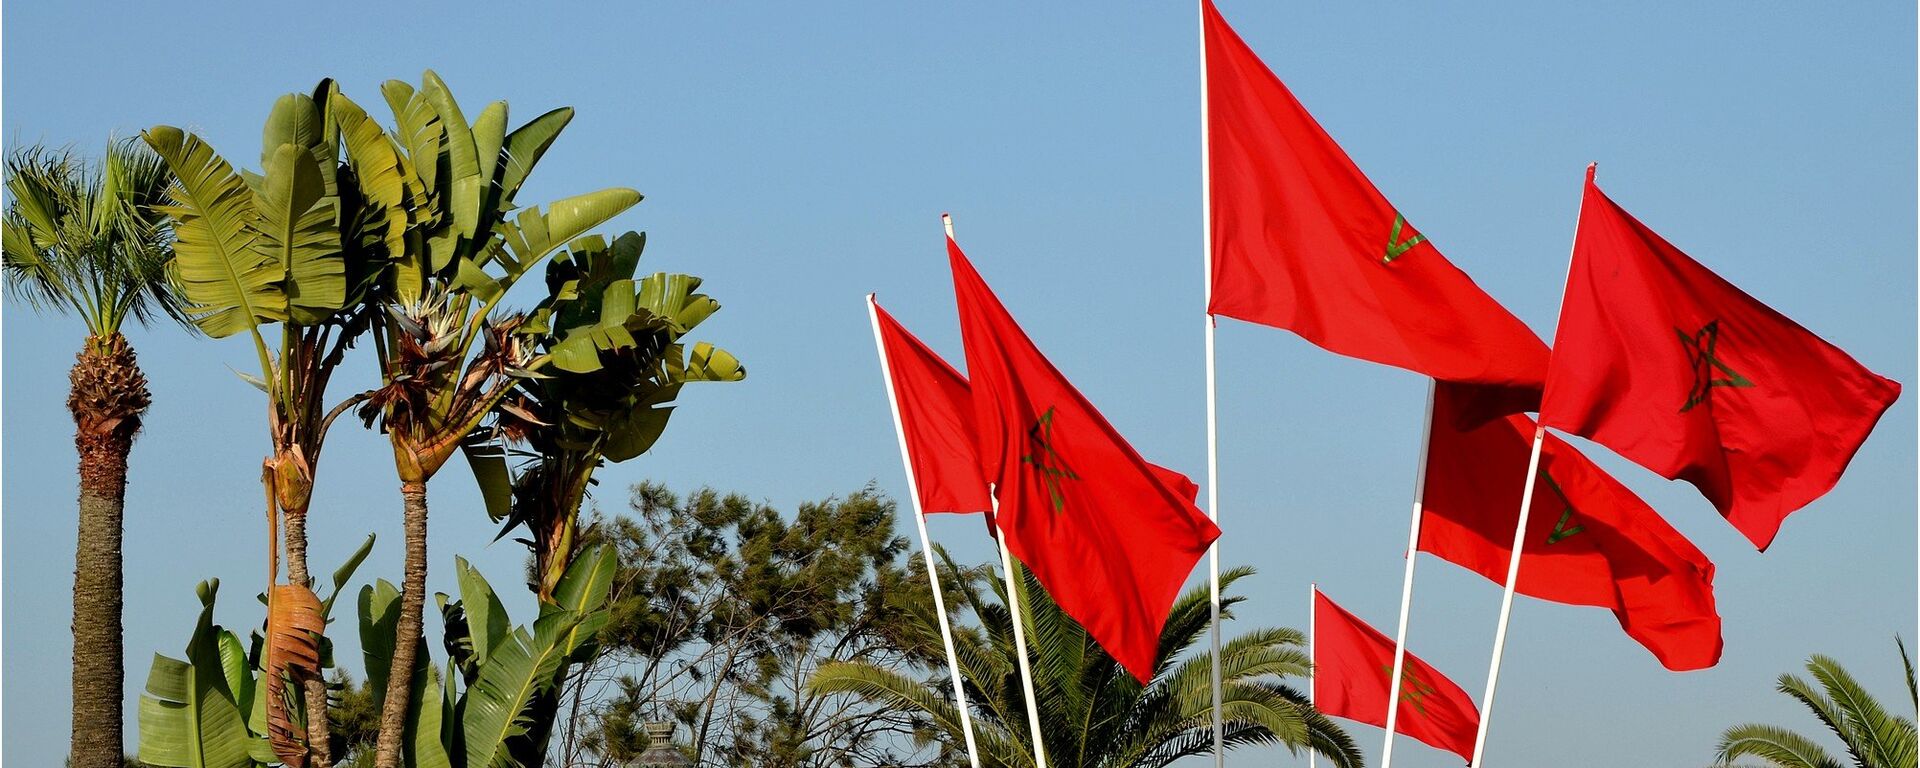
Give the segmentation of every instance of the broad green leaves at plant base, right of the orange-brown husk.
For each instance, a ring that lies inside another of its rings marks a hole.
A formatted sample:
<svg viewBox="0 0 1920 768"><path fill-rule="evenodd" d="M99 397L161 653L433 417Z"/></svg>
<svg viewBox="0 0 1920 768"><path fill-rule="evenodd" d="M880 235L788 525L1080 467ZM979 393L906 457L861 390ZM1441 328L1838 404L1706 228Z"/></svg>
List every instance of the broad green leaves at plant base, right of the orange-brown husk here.
<svg viewBox="0 0 1920 768"><path fill-rule="evenodd" d="M597 653L593 630L609 616L614 553L605 545L582 553L561 580L559 601L541 603L530 628L509 624L493 588L467 561L455 559L455 572L459 599L434 595L445 626L447 666L434 666L424 651L415 660L403 764L541 766L561 684L568 668L591 662ZM376 732L399 591L380 580L361 588L359 605L369 672L365 728ZM361 751L371 753L372 732L363 733Z"/></svg>

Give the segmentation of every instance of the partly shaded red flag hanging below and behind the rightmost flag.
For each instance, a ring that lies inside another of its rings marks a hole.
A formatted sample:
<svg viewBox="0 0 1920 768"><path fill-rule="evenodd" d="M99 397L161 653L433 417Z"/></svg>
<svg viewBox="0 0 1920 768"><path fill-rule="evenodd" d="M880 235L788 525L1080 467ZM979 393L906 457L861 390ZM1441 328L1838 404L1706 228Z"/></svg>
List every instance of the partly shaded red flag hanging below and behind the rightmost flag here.
<svg viewBox="0 0 1920 768"><path fill-rule="evenodd" d="M1507 584L1534 420L1511 415L1461 430L1450 413L1457 407L1457 392L1442 384L1427 449L1421 551ZM1613 611L1626 636L1668 670L1720 660L1713 561L1551 434L1540 449L1523 541L1515 591Z"/></svg>

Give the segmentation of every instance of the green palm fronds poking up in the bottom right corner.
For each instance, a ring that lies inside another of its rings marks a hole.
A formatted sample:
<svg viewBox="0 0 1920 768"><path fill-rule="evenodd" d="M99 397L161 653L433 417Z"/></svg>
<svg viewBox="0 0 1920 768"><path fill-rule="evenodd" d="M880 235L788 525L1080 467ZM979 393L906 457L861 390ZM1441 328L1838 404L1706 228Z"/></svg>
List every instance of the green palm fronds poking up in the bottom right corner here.
<svg viewBox="0 0 1920 768"><path fill-rule="evenodd" d="M1893 637L1893 645L1901 649L1901 666L1907 668L1908 705L1920 707L1920 695L1914 693L1914 662L1907 655L1907 643ZM1880 701L1874 701L1830 657L1807 659L1807 672L1812 672L1812 678L1820 682L1818 689L1795 674L1782 674L1774 687L1807 705L1847 745L1847 756L1855 768L1914 768L1920 749L1916 749L1912 720L1880 707ZM1734 726L1720 733L1720 764L1730 766L1743 756L1757 756L1780 768L1845 766L1811 737L1763 724Z"/></svg>

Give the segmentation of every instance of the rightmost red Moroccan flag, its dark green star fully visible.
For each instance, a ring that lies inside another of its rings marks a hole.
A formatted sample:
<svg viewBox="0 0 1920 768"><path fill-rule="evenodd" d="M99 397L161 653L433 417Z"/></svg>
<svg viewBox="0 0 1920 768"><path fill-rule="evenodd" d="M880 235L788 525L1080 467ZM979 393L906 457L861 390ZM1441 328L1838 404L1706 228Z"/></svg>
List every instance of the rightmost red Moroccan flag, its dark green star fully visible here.
<svg viewBox="0 0 1920 768"><path fill-rule="evenodd" d="M1544 424L1692 482L1761 551L1901 394L1622 211L1594 169L1553 349Z"/></svg>

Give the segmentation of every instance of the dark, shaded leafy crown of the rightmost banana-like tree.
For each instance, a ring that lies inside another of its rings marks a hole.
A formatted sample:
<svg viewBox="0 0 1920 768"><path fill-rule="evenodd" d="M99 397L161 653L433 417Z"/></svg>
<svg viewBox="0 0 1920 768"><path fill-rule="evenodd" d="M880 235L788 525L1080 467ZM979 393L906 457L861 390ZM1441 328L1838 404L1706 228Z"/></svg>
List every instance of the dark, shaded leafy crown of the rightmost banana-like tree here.
<svg viewBox="0 0 1920 768"><path fill-rule="evenodd" d="M547 263L547 298L520 326L553 361L543 376L520 378L501 405L503 432L526 461L507 480L484 480L490 509L505 528L528 528L538 580L551 597L580 543L580 505L601 461L628 461L653 447L687 382L737 382L747 369L726 349L682 342L720 309L689 275L636 278L645 234L612 244L574 240ZM511 497L511 499L509 499Z"/></svg>

